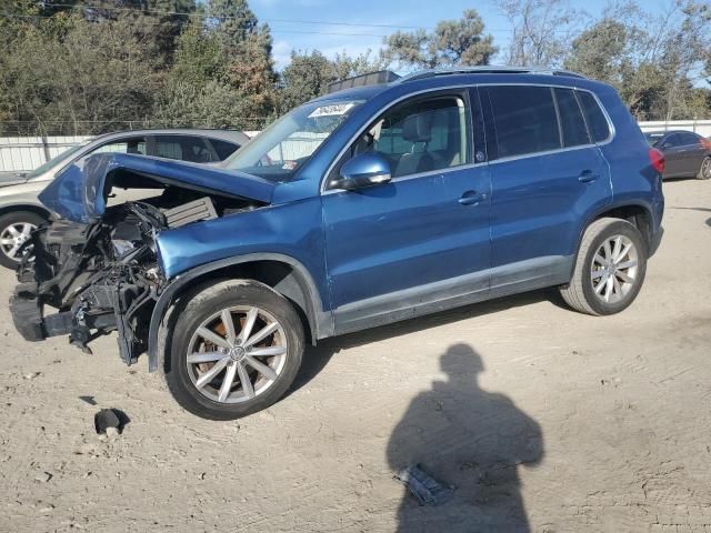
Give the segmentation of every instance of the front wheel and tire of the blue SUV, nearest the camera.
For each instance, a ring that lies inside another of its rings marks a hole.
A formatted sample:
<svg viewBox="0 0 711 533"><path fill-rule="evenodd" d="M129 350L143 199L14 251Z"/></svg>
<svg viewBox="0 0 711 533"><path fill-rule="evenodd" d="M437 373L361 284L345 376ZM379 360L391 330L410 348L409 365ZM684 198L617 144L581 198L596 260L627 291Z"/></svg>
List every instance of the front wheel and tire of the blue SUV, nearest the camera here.
<svg viewBox="0 0 711 533"><path fill-rule="evenodd" d="M269 408L293 382L303 328L289 301L256 281L222 281L192 298L176 322L166 372L187 411L233 420Z"/></svg>

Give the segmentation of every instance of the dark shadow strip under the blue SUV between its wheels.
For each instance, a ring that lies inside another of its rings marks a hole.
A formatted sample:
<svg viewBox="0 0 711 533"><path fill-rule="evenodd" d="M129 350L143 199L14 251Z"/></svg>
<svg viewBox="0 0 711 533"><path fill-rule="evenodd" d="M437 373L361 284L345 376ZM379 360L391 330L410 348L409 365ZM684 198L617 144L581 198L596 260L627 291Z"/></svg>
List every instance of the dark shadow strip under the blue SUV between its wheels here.
<svg viewBox="0 0 711 533"><path fill-rule="evenodd" d="M348 333L346 335L323 339L319 341L316 346L307 346L301 369L299 370L291 388L287 391L284 398L291 395L302 386L306 386L329 364L331 358L341 350L348 350L350 348L379 342L385 339L408 335L415 331L424 331L431 328L454 323L460 320L481 316L483 314L494 313L498 311L505 311L507 309L519 308L522 305L530 305L542 301L549 301L559 308L569 309L558 291L553 289L542 289L487 302L472 303L471 305L381 325L370 330L359 331L357 333Z"/></svg>

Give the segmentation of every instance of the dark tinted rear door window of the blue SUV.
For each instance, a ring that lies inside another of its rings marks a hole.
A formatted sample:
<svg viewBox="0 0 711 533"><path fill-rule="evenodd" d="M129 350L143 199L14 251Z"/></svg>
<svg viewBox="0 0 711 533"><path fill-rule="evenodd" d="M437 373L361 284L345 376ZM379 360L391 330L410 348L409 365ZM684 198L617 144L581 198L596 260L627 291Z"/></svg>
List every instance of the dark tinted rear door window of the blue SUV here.
<svg viewBox="0 0 711 533"><path fill-rule="evenodd" d="M488 93L499 158L561 148L551 88L501 86Z"/></svg>

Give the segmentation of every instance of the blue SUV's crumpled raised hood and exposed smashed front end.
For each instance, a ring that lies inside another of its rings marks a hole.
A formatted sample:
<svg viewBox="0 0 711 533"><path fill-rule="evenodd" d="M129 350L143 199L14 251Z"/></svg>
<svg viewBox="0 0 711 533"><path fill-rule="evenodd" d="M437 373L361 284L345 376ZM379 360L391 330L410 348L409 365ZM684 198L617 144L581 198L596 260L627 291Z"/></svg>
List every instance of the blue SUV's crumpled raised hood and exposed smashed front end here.
<svg viewBox="0 0 711 533"><path fill-rule="evenodd" d="M33 260L18 271L10 298L17 330L28 341L69 334L87 352L92 340L118 331L121 359L134 363L148 348L156 301L170 284L157 254L160 233L262 207L272 187L138 155L92 155L70 167L40 194L61 218L33 233ZM107 207L120 189L161 191Z"/></svg>

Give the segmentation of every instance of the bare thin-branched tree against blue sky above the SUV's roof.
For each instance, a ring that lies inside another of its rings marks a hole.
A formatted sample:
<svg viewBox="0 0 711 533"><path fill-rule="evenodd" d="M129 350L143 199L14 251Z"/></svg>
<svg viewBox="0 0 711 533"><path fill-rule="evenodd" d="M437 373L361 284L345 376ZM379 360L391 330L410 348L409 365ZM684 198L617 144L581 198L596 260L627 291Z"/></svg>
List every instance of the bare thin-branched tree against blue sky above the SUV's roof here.
<svg viewBox="0 0 711 533"><path fill-rule="evenodd" d="M513 31L508 64L554 68L563 62L583 13L567 0L502 0L499 6Z"/></svg>

